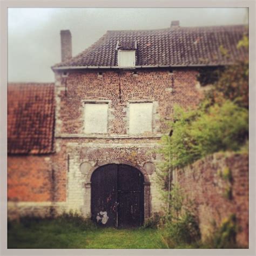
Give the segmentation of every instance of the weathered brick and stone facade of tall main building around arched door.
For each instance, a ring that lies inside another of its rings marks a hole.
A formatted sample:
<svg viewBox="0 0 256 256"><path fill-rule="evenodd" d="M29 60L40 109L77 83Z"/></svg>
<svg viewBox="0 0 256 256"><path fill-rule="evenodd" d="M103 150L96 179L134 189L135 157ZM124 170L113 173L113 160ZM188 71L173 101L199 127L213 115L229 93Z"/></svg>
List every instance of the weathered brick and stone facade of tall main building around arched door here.
<svg viewBox="0 0 256 256"><path fill-rule="evenodd" d="M93 170L102 161L111 163L117 159L142 169L148 161L156 164L157 156L152 151L164 132L164 120L170 119L173 113L174 104L196 106L202 97L196 76L195 69L175 69L172 74L169 69L138 70L136 75L133 70L106 70L101 76L97 70L69 71L68 77L56 72L56 170L65 175L63 169L69 169L66 174L69 209L90 214L90 180L88 173L80 170L83 162ZM109 101L107 134L83 132L83 100ZM128 103L134 100L153 102L152 134L130 136ZM64 164L68 156L69 164ZM160 208L154 176L156 172L148 176L145 217Z"/></svg>

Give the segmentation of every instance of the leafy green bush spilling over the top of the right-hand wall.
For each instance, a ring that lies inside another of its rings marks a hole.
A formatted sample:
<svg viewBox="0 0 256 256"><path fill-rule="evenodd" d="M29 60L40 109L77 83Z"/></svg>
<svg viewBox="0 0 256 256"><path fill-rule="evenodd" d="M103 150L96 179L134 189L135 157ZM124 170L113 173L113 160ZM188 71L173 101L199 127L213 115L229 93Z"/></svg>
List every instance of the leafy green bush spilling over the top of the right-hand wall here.
<svg viewBox="0 0 256 256"><path fill-rule="evenodd" d="M206 104L206 103L205 103ZM160 153L165 161L160 166L160 179L169 167L180 168L218 151L239 151L248 139L248 110L226 100L198 110L174 108L169 124L171 138L161 138Z"/></svg>

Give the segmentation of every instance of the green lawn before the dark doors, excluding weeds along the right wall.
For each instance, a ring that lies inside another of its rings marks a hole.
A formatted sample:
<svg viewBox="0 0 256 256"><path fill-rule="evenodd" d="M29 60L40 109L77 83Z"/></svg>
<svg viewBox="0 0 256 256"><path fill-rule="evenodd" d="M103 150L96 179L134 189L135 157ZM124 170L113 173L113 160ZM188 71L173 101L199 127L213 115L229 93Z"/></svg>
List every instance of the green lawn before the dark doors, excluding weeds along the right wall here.
<svg viewBox="0 0 256 256"><path fill-rule="evenodd" d="M115 229L79 221L28 220L9 223L8 248L166 248L155 228Z"/></svg>

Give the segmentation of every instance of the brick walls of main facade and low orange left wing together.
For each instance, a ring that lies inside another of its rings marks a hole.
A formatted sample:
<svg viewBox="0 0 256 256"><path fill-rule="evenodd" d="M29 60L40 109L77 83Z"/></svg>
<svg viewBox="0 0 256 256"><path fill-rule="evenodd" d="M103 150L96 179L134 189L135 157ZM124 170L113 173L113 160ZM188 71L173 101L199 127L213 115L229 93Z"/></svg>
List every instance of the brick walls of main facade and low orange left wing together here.
<svg viewBox="0 0 256 256"><path fill-rule="evenodd" d="M33 202L33 207L21 206L23 212L40 212L35 209L48 201L63 202L66 210L89 214L89 170L81 170L81 164L86 162L95 169L101 162L119 159L146 173L145 163L156 164L158 156L153 150L164 132L164 120L173 113L173 105L196 106L202 97L196 76L197 71L189 68L175 69L172 75L168 69L138 70L137 75L133 70L106 70L102 76L97 70L69 71L68 77L56 72L56 153L47 164L44 156L10 156L9 199ZM109 100L107 134L83 132L83 100ZM152 134L130 136L128 102L134 100L153 102ZM149 217L159 210L160 200L154 183L156 172L147 176L145 212Z"/></svg>

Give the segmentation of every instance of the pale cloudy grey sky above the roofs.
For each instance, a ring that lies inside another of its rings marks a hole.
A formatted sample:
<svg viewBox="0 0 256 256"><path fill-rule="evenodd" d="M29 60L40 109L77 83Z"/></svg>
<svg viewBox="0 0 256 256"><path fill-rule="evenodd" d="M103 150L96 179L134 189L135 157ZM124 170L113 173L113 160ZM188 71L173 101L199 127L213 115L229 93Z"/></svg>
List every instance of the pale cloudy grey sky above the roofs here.
<svg viewBox="0 0 256 256"><path fill-rule="evenodd" d="M54 82L60 30L72 35L72 56L107 30L247 24L246 8L8 8L8 81Z"/></svg>

